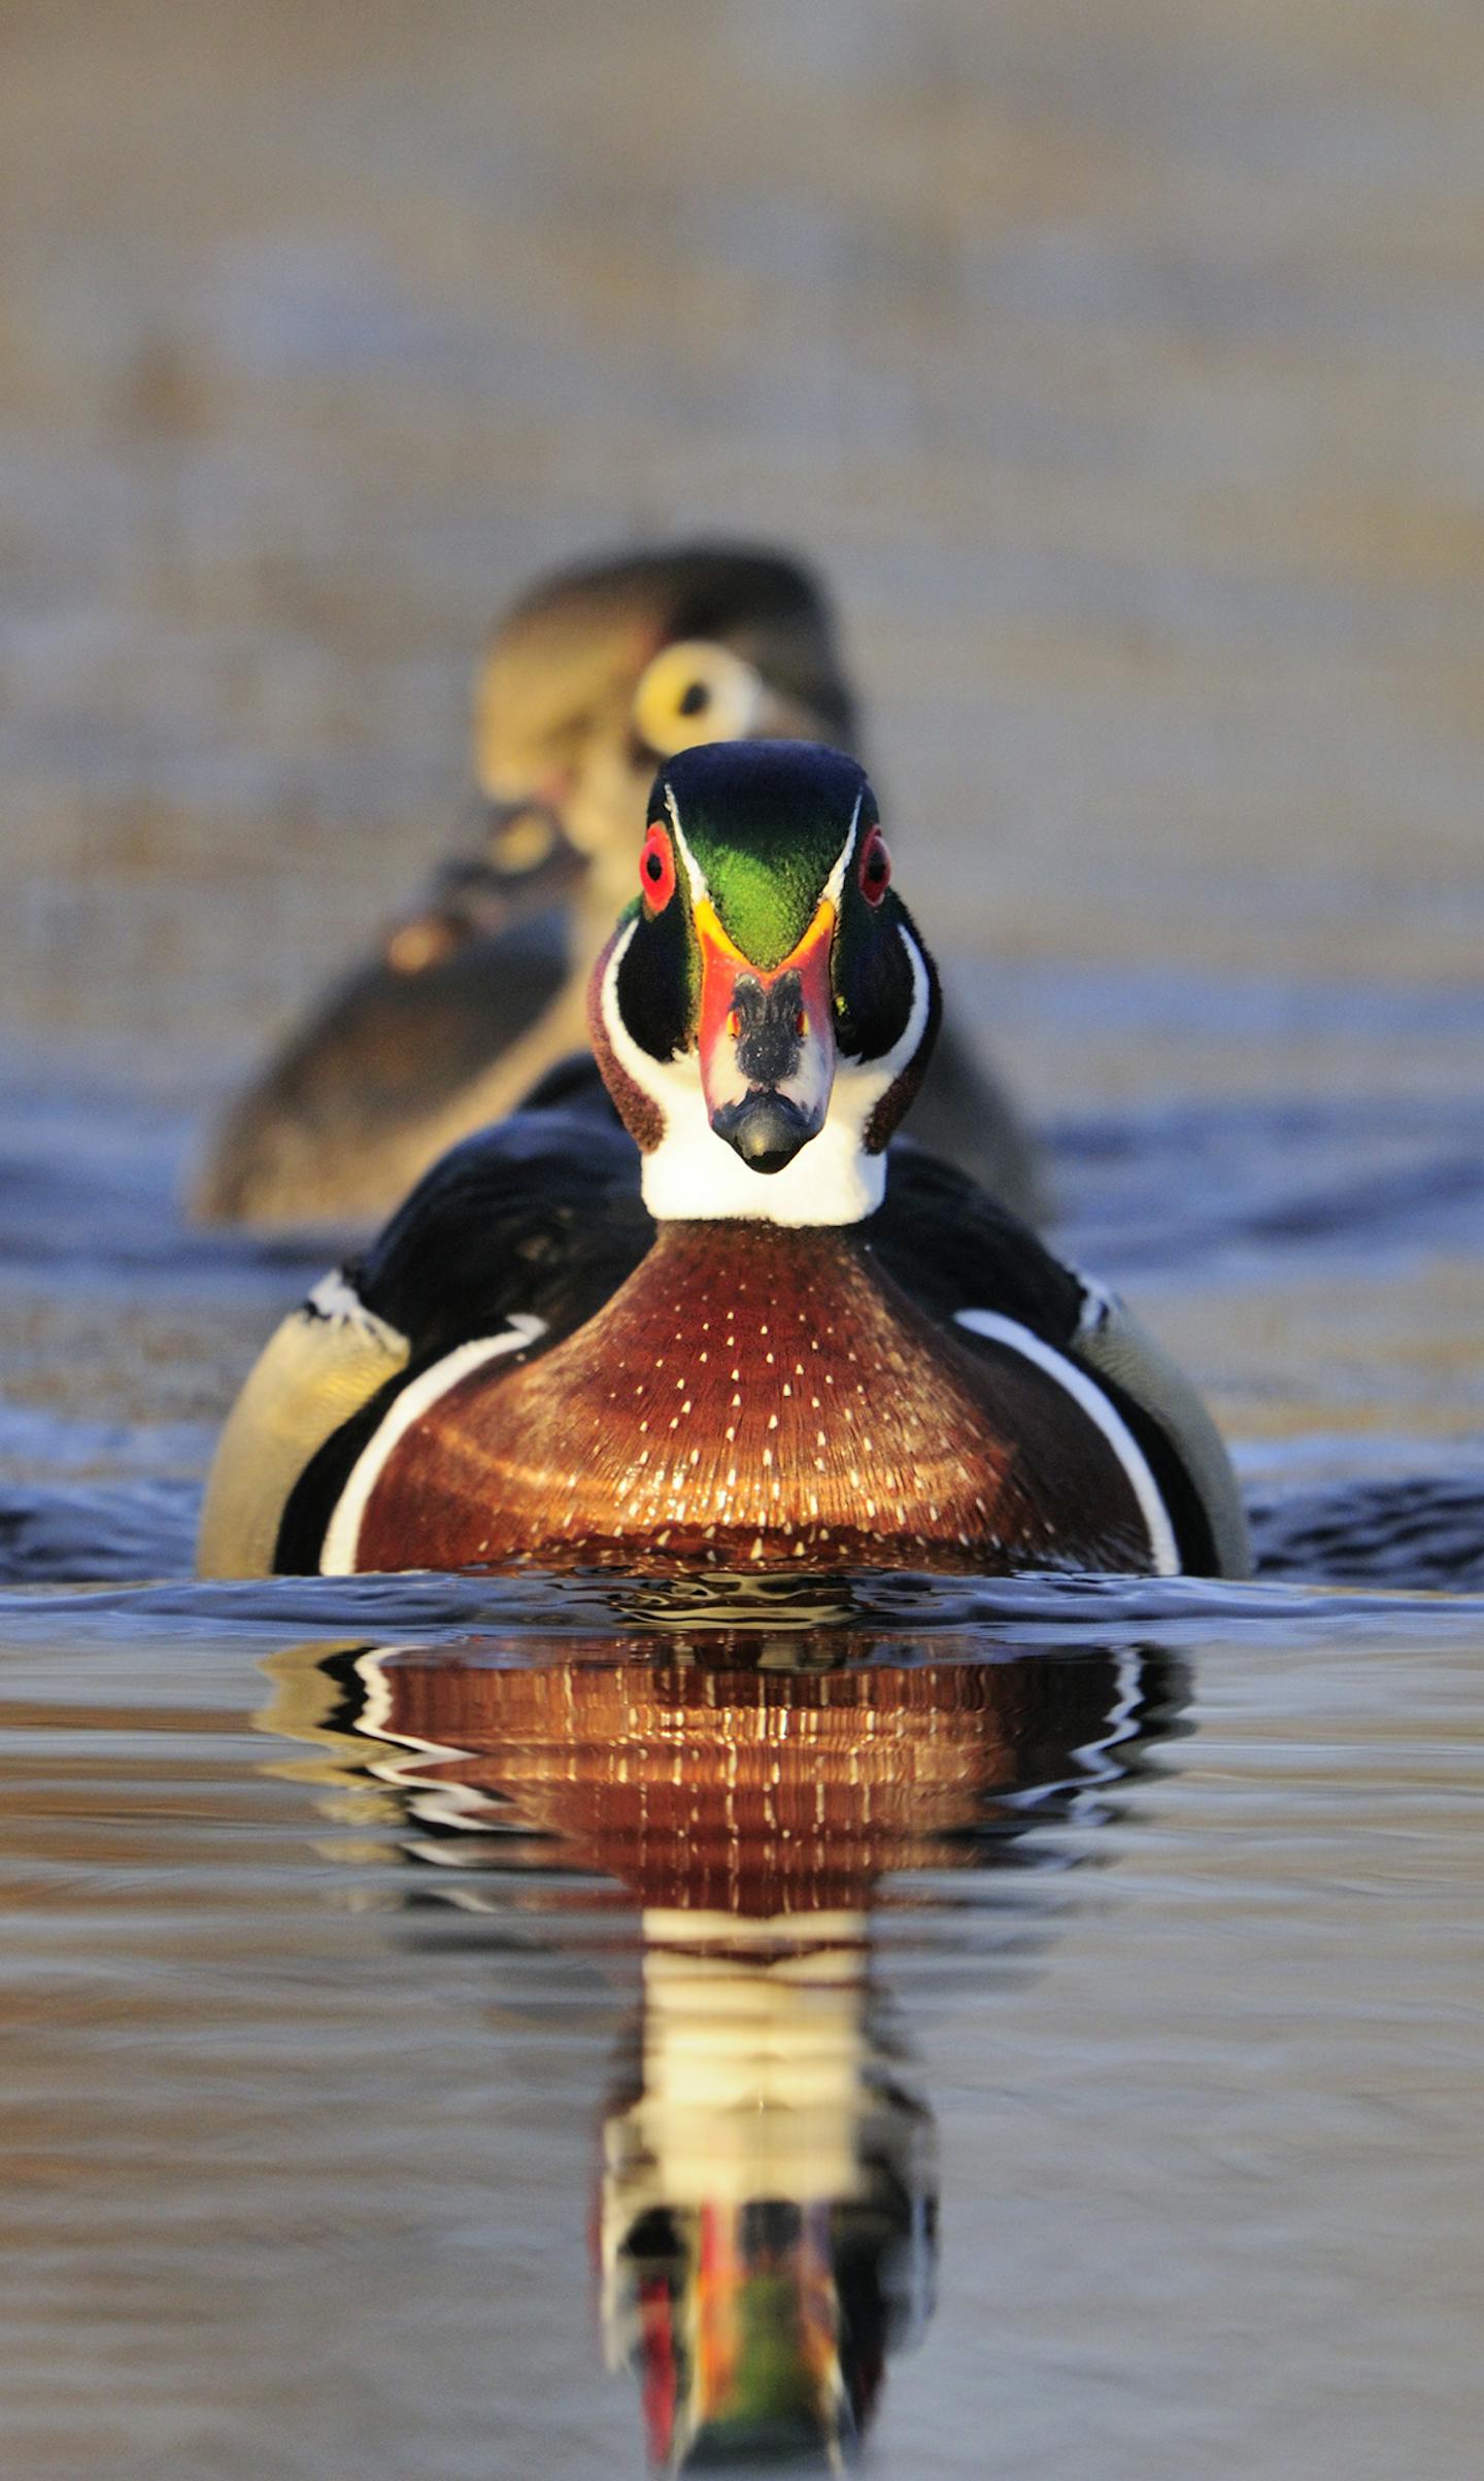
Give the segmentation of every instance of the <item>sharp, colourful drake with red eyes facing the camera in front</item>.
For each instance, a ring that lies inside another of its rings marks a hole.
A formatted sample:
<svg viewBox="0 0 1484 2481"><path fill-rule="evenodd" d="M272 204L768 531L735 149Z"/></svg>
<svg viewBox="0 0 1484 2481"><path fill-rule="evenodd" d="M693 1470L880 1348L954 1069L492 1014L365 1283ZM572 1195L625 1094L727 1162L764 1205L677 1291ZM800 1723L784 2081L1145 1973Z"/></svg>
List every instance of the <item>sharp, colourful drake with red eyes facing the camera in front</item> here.
<svg viewBox="0 0 1484 2481"><path fill-rule="evenodd" d="M551 1079L285 1320L201 1566L1243 1573L1231 1466L1149 1337L888 1154L936 1030L861 767L670 759L593 968L610 1102Z"/></svg>

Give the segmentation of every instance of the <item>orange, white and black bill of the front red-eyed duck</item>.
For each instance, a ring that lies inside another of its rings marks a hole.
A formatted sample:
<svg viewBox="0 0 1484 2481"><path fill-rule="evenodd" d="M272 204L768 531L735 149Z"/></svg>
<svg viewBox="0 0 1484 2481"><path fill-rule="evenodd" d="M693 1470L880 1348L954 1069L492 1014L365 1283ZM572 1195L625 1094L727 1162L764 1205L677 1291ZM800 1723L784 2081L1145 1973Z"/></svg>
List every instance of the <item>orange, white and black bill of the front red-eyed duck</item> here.
<svg viewBox="0 0 1484 2481"><path fill-rule="evenodd" d="M834 1089L834 906L821 901L799 945L772 970L742 955L707 898L695 908L695 933L710 1124L752 1171L782 1171L819 1136Z"/></svg>

